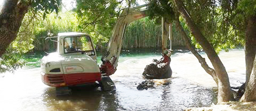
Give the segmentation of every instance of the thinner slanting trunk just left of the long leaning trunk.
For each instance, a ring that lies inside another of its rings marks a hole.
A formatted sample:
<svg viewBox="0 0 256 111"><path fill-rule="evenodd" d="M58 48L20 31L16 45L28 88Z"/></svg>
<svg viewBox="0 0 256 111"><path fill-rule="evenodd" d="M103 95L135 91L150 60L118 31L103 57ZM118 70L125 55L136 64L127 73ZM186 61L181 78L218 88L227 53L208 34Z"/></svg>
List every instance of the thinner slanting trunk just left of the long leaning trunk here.
<svg viewBox="0 0 256 111"><path fill-rule="evenodd" d="M178 31L181 34L181 37L183 38L183 40L185 41L185 44L188 48L188 50L190 50L198 59L199 63L201 64L201 66L204 68L204 70L211 75L211 77L213 77L213 80L216 82L216 84L218 85L218 78L217 75L214 71L214 69L210 68L208 66L208 64L206 63L205 59L199 54L197 53L197 51L195 50L194 46L191 44L190 39L188 38L187 34L185 33L185 31L183 30L183 28L180 25L180 21L177 19L176 20L176 27L178 29Z"/></svg>

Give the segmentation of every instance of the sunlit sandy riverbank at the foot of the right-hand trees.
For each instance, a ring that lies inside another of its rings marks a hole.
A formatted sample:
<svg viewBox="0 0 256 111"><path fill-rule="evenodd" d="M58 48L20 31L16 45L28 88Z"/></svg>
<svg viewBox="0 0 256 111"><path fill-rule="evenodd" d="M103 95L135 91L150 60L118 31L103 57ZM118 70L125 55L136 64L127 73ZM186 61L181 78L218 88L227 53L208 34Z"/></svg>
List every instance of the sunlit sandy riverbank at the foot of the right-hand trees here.
<svg viewBox="0 0 256 111"><path fill-rule="evenodd" d="M210 107L187 108L185 111L256 111L255 102L223 102Z"/></svg>

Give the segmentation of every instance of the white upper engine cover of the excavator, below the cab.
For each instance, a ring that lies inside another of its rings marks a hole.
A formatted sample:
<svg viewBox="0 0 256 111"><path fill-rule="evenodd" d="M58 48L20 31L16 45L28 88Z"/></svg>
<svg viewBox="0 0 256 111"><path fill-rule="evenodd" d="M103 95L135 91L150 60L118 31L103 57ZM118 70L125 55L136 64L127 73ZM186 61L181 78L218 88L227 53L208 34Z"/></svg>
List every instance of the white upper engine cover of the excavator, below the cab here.
<svg viewBox="0 0 256 111"><path fill-rule="evenodd" d="M59 72L56 72L56 69ZM41 69L46 74L98 73L97 62L89 55L81 53L50 53L42 58Z"/></svg>

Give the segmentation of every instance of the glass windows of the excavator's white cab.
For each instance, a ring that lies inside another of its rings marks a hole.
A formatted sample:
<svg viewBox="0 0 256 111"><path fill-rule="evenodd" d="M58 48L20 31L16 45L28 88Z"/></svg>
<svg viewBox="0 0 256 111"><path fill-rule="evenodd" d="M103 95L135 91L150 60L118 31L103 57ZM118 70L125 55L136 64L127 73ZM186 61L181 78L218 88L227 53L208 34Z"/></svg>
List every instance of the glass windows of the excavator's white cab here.
<svg viewBox="0 0 256 111"><path fill-rule="evenodd" d="M64 52L95 55L93 51L92 41L89 36L65 37L64 38Z"/></svg>

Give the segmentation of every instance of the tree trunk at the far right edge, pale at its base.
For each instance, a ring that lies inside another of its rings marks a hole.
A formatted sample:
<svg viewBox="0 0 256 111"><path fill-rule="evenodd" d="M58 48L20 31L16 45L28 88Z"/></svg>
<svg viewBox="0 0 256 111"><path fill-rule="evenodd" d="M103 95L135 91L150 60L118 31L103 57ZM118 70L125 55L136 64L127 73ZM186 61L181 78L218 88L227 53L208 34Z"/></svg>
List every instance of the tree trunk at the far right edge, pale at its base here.
<svg viewBox="0 0 256 111"><path fill-rule="evenodd" d="M245 37L246 88L240 101L256 101L256 16L250 17ZM254 63L253 63L254 61ZM253 68L253 72L252 72Z"/></svg>

